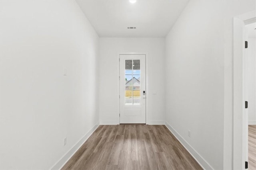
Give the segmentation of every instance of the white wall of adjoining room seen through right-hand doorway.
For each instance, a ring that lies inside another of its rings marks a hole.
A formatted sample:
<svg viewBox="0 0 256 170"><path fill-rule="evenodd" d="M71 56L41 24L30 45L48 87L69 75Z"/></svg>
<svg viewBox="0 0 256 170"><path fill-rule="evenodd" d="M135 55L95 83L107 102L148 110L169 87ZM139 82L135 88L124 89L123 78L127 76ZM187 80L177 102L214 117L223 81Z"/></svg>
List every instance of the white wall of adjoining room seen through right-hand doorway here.
<svg viewBox="0 0 256 170"><path fill-rule="evenodd" d="M256 124L256 38L249 38L246 49L246 100L248 123Z"/></svg>

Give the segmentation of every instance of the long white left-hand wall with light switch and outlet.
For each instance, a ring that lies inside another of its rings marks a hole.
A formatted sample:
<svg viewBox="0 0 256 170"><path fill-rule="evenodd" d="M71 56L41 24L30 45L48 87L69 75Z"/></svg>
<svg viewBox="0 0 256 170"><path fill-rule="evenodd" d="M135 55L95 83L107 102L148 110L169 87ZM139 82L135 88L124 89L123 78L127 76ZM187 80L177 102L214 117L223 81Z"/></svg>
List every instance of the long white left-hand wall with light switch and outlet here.
<svg viewBox="0 0 256 170"><path fill-rule="evenodd" d="M75 1L0 6L0 169L49 169L99 121L99 38Z"/></svg>

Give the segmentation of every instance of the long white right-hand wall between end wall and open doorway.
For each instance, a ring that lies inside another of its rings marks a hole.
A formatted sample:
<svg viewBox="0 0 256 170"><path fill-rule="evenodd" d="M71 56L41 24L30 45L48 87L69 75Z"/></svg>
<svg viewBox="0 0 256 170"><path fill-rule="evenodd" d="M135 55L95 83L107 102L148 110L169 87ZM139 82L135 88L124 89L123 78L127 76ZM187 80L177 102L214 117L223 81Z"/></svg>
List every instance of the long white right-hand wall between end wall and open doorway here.
<svg viewBox="0 0 256 170"><path fill-rule="evenodd" d="M233 17L254 8L190 1L166 37L166 123L205 168L232 169Z"/></svg>

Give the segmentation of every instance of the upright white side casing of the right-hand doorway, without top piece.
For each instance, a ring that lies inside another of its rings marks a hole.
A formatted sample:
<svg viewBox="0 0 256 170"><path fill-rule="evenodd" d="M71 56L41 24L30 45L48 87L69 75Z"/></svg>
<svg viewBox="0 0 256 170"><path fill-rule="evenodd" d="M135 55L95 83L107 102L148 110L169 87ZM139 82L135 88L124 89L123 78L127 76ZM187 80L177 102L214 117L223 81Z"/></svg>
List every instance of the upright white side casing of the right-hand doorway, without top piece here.
<svg viewBox="0 0 256 170"><path fill-rule="evenodd" d="M233 67L233 169L244 169L244 96L243 96L243 35L244 23L238 18L234 18L234 67Z"/></svg>

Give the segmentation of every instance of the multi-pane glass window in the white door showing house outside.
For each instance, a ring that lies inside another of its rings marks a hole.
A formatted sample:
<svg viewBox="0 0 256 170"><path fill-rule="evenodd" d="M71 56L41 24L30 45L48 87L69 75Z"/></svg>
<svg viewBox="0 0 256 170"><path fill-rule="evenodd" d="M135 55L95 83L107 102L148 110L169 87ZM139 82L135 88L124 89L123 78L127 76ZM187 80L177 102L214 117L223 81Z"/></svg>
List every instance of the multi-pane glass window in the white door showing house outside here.
<svg viewBox="0 0 256 170"><path fill-rule="evenodd" d="M140 105L140 60L125 60L125 105Z"/></svg>

